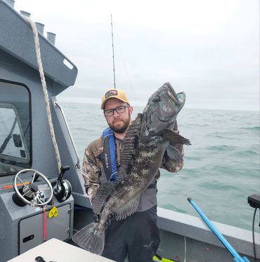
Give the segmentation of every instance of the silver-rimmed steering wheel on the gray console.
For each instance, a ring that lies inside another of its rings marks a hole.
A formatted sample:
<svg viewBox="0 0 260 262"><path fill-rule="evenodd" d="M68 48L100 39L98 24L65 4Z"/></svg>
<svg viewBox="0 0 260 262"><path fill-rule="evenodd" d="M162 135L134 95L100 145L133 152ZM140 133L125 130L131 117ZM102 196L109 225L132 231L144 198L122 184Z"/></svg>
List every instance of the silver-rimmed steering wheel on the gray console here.
<svg viewBox="0 0 260 262"><path fill-rule="evenodd" d="M32 176L32 182L23 182L21 177L24 173L34 173ZM34 180L37 180L38 177L41 177L44 180L45 183L43 185L47 185L46 188L38 188L34 182ZM23 187L18 189L18 185L20 183L22 183ZM51 182L45 175L34 169L20 170L15 175L13 180L13 189L15 190L15 194L18 196L18 198L30 206L45 206L46 204L50 203L51 199L53 198L53 187L51 186ZM46 200L45 192L47 191L48 199Z"/></svg>

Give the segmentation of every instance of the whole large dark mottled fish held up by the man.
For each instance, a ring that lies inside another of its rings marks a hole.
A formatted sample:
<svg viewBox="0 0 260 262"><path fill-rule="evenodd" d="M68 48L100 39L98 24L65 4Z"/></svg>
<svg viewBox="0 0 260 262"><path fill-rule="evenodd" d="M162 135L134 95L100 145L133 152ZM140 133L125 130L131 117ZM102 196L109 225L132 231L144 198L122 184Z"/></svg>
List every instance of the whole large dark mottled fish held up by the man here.
<svg viewBox="0 0 260 262"><path fill-rule="evenodd" d="M143 113L131 123L122 141L119 181L100 185L94 198L93 212L100 218L98 223L86 225L72 237L79 247L102 254L108 218L124 219L136 211L142 192L157 175L165 151L171 159L182 160L172 145L190 144L173 132L185 101L186 94L176 94L169 82L150 96Z"/></svg>

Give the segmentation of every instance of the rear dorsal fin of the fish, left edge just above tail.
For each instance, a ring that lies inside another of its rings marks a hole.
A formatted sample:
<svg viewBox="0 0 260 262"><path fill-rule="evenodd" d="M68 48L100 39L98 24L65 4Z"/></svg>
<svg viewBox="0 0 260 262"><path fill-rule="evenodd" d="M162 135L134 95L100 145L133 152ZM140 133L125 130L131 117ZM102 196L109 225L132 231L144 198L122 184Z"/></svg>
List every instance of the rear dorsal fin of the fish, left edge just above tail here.
<svg viewBox="0 0 260 262"><path fill-rule="evenodd" d="M111 182L101 184L99 186L98 192L92 201L94 213L96 214L101 213L102 208L105 204L105 201L107 201L108 197L111 196L112 192L114 192L115 187L117 187L118 184L119 182L117 181L111 181Z"/></svg>

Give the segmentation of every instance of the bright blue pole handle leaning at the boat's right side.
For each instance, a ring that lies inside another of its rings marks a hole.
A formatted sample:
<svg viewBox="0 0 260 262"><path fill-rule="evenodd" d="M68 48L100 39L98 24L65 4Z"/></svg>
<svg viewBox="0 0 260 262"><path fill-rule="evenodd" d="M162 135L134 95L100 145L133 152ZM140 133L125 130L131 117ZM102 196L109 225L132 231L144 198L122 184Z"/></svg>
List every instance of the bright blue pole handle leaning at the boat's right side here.
<svg viewBox="0 0 260 262"><path fill-rule="evenodd" d="M228 243L228 241L226 240L225 237L223 237L223 235L221 235L221 232L219 232L219 230L216 229L216 227L212 224L212 222L209 220L209 218L207 218L207 216L204 215L204 213L202 213L202 211L200 210L200 208L195 204L195 202L193 201L193 199L191 199L190 197L188 198L188 201L190 202L190 204L195 208L195 210L197 211L197 213L199 213L199 215L201 216L202 220L204 221L204 223L207 224L207 226L209 227L210 230L212 230L214 232L214 234L216 235L216 237L219 238L219 240L221 241L221 243L226 247L226 249L228 249L229 253L233 256L234 261L235 262L249 262L249 260L244 256L241 257L237 251L235 251L235 249L233 249L233 247Z"/></svg>

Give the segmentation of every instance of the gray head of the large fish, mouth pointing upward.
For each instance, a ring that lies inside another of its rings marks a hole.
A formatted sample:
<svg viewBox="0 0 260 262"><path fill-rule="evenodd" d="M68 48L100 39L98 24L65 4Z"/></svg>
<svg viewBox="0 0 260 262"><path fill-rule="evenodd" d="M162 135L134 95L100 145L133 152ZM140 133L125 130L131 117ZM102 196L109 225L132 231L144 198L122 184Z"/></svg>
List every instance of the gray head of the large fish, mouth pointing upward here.
<svg viewBox="0 0 260 262"><path fill-rule="evenodd" d="M174 130L178 112L183 108L185 101L186 94L176 94L169 82L157 89L143 110L145 135L154 135L164 129Z"/></svg>

